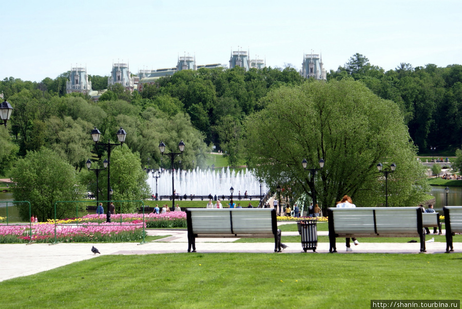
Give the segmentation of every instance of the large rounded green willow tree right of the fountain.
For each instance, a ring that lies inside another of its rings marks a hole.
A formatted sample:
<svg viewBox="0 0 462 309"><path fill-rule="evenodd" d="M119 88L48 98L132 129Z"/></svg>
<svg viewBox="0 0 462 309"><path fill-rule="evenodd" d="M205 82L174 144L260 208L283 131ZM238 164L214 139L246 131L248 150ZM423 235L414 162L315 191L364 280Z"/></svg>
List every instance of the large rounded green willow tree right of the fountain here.
<svg viewBox="0 0 462 309"><path fill-rule="evenodd" d="M389 204L413 206L428 191L422 165L414 159L397 105L352 81L281 87L263 99L267 106L246 121L247 160L273 187L287 183L325 209L348 194L358 206L385 200L379 162L396 163L388 179ZM325 165L316 173L304 171ZM317 196L317 197L316 197Z"/></svg>

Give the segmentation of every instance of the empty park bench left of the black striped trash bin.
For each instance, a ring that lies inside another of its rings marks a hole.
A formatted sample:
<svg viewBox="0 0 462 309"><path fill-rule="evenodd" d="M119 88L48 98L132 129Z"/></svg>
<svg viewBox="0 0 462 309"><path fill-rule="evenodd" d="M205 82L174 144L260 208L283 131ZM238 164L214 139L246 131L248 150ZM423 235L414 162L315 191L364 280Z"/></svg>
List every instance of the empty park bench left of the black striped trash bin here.
<svg viewBox="0 0 462 309"><path fill-rule="evenodd" d="M273 238L281 252L281 230L271 208L188 208L188 252L196 252L196 238Z"/></svg>

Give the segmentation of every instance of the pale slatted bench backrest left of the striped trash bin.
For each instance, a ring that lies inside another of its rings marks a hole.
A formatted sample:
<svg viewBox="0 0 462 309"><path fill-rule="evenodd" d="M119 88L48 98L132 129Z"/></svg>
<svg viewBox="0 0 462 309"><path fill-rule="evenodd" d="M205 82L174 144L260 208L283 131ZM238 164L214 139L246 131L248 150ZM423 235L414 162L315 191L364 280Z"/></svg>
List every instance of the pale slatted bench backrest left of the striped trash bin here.
<svg viewBox="0 0 462 309"><path fill-rule="evenodd" d="M273 234L276 214L271 208L188 209L194 234Z"/></svg>

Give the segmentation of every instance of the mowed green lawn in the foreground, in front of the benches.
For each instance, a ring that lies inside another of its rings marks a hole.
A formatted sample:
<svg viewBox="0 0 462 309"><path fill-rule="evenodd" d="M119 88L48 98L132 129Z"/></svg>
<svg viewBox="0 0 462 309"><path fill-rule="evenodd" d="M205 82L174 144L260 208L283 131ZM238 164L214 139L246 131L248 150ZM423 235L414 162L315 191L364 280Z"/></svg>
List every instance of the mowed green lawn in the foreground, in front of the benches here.
<svg viewBox="0 0 462 309"><path fill-rule="evenodd" d="M459 253L108 255L0 282L0 293L2 308L369 308L371 299L458 299L461 259Z"/></svg>

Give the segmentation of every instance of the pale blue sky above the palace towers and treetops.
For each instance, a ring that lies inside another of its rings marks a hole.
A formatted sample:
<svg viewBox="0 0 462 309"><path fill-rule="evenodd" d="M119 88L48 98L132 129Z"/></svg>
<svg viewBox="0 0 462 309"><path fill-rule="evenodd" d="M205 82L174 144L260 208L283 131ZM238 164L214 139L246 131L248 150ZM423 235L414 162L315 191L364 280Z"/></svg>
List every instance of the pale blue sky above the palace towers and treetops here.
<svg viewBox="0 0 462 309"><path fill-rule="evenodd" d="M249 51L266 66L301 68L321 54L326 71L355 53L388 71L461 64L460 0L24 0L2 1L0 79L55 79L76 65L107 76L172 68L178 56L229 66Z"/></svg>

